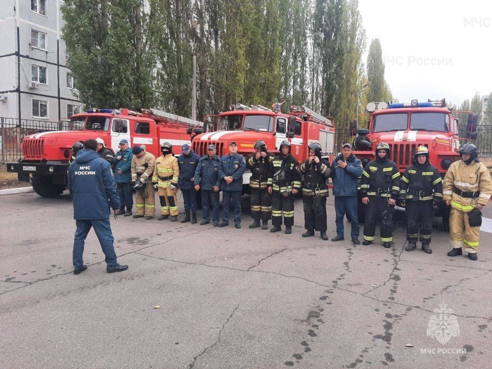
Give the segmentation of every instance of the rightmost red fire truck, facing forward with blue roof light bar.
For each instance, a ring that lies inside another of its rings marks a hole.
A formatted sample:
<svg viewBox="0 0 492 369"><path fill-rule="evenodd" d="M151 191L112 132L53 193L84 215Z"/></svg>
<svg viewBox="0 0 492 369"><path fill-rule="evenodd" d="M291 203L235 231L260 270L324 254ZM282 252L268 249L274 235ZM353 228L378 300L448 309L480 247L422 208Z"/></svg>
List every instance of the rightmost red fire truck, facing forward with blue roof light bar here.
<svg viewBox="0 0 492 369"><path fill-rule="evenodd" d="M429 149L429 159L444 178L449 166L460 159L458 150L460 140L477 138L477 115L471 112L453 112L446 107L446 100L428 100L410 103L393 101L369 102L368 128L359 128L358 121L351 122L354 139L354 154L366 164L375 158L375 148L379 142L386 142L391 149L391 159L397 163L400 173L412 163L413 154L422 145ZM467 113L466 136L459 137L457 113ZM361 201L359 201L361 204ZM364 222L364 206L359 206L359 220ZM404 209L397 207L397 210ZM449 208L442 207L437 215L447 223Z"/></svg>

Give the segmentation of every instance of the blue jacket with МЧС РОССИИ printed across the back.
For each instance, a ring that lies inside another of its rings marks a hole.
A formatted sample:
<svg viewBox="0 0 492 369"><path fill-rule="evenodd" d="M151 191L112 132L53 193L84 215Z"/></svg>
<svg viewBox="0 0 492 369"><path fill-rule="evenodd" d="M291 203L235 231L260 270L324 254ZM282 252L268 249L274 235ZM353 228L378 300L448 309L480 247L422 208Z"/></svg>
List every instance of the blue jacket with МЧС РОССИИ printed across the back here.
<svg viewBox="0 0 492 369"><path fill-rule="evenodd" d="M68 190L73 199L74 219L107 219L110 206L120 209L111 164L93 150L82 149L77 153L68 169Z"/></svg>

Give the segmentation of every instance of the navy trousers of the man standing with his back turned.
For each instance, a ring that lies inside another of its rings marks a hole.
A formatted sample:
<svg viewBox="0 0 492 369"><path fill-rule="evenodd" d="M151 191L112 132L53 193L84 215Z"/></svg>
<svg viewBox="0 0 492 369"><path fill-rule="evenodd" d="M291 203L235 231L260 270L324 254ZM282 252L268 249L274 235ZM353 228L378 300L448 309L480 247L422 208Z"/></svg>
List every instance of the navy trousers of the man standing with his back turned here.
<svg viewBox="0 0 492 369"><path fill-rule="evenodd" d="M106 255L104 259L110 267L117 265L116 252L114 246L113 233L111 232L111 224L108 219L92 219L92 220L75 220L77 229L75 230L75 239L73 241L73 267L80 268L84 265L84 241L87 234L94 227L94 232L101 244L102 252Z"/></svg>

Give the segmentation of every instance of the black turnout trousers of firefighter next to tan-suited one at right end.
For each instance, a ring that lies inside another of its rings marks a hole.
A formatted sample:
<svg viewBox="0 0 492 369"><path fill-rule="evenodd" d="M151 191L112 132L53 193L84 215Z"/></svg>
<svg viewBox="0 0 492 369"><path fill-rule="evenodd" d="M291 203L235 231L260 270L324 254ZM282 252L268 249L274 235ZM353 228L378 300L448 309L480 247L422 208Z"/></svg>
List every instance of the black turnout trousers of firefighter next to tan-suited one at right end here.
<svg viewBox="0 0 492 369"><path fill-rule="evenodd" d="M419 241L431 243L432 236L432 201L406 200L406 239L408 242Z"/></svg>

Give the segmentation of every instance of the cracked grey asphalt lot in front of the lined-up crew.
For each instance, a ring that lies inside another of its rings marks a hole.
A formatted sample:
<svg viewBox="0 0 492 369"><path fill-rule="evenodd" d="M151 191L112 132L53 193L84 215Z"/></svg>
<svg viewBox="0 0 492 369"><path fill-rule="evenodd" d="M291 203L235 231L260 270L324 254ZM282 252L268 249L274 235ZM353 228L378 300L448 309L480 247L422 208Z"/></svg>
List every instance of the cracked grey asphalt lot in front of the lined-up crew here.
<svg viewBox="0 0 492 369"><path fill-rule="evenodd" d="M129 270L106 274L91 232L74 276L67 195L0 206L1 368L490 367L490 233L473 262L442 231L431 255L403 229L390 249L303 239L301 200L291 235L118 217Z"/></svg>

